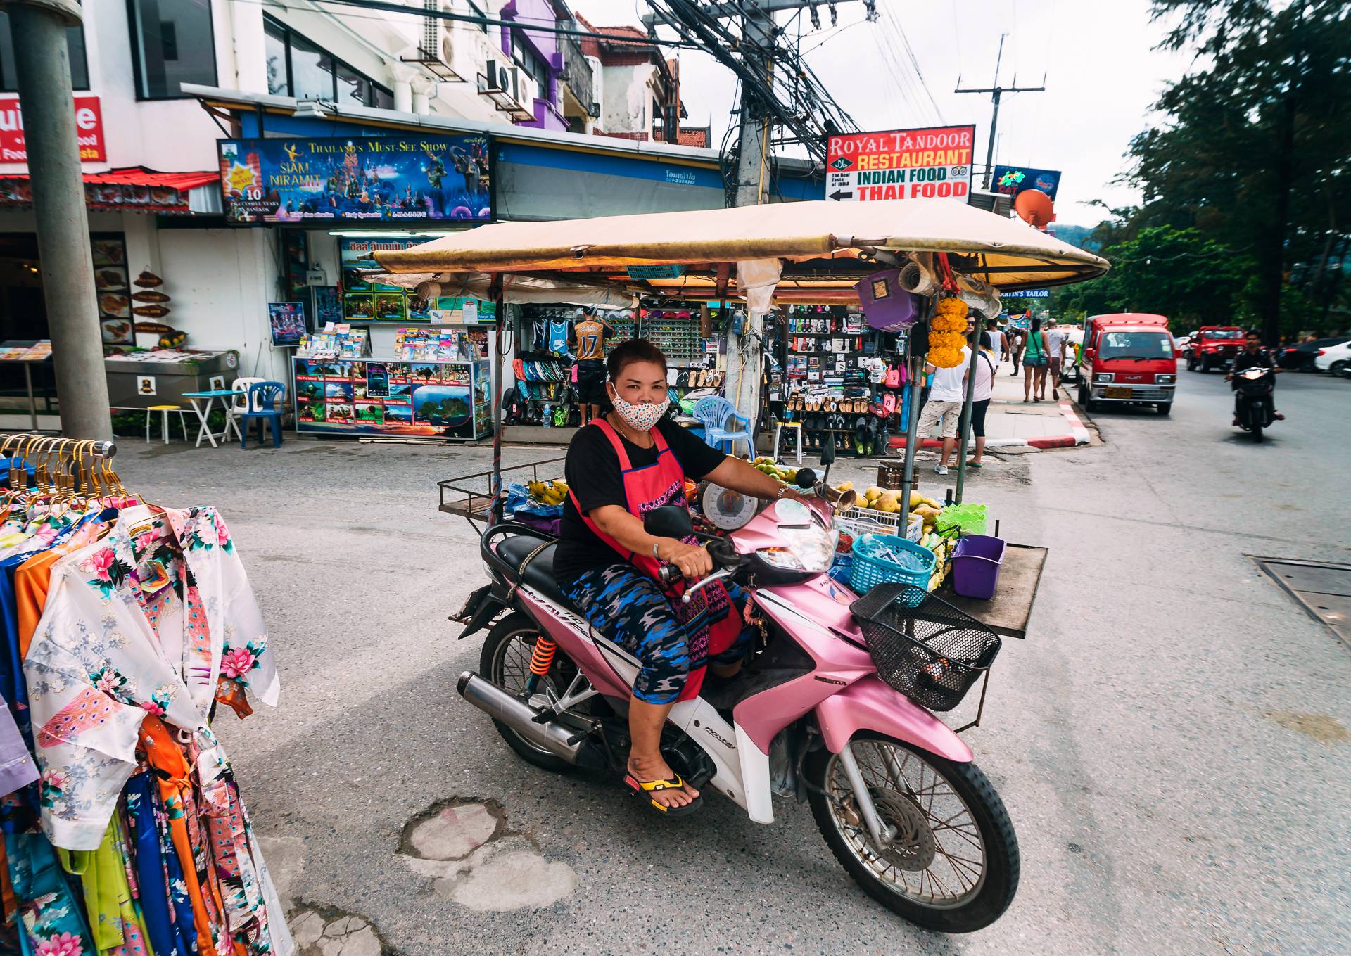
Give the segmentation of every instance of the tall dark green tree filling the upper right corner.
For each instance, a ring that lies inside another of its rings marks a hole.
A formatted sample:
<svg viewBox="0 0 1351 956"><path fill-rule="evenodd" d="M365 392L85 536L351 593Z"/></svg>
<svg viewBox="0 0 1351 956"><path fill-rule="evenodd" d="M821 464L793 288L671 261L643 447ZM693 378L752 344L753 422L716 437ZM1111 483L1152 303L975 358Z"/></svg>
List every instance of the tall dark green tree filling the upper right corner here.
<svg viewBox="0 0 1351 956"><path fill-rule="evenodd" d="M1292 302L1340 294L1351 244L1351 4L1346 0L1154 0L1162 46L1193 47L1166 122L1131 143L1143 201L1112 225L1197 228L1251 259L1242 302L1274 340ZM1111 258L1111 257L1109 257ZM1288 286L1301 296L1292 296Z"/></svg>

